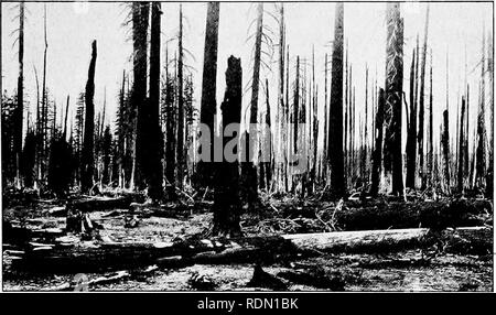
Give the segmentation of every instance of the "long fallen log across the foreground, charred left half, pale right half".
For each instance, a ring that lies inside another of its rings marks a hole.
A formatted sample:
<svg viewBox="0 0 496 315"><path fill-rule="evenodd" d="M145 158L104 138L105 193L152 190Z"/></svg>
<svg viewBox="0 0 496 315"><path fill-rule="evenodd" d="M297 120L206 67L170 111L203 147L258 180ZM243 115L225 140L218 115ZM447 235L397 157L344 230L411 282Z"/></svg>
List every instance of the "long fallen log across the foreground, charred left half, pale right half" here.
<svg viewBox="0 0 496 315"><path fill-rule="evenodd" d="M432 237L430 229L341 231L238 239L190 239L176 242L82 242L75 246L24 249L15 268L26 271L89 272L159 264L273 262L323 252L392 252L427 248L443 242L446 251L487 253L493 230L486 227L445 230ZM452 245L452 246L450 246Z"/></svg>

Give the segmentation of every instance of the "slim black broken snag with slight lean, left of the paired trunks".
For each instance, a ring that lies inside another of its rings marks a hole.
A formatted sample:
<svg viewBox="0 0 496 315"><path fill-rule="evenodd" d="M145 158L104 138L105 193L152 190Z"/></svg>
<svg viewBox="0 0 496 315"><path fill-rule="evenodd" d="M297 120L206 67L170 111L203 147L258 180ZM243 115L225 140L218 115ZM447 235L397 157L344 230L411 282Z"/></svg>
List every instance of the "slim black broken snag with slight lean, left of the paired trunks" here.
<svg viewBox="0 0 496 315"><path fill-rule="evenodd" d="M85 90L85 132L82 152L82 177L80 186L83 192L89 192L93 186L93 172L95 169L94 156L94 133L95 133L95 65L97 57L96 41L91 44L91 61L89 62L88 80Z"/></svg>

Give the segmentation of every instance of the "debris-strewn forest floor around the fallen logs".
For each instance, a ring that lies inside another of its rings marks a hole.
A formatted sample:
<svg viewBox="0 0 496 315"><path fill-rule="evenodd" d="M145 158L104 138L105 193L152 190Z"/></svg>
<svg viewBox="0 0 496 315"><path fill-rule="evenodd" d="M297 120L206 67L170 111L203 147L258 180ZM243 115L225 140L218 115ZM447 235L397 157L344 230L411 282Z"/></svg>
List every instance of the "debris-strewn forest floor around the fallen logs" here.
<svg viewBox="0 0 496 315"><path fill-rule="evenodd" d="M346 202L348 203L348 202ZM346 206L345 203L345 206ZM359 202L351 202L360 207ZM263 206L241 216L245 236L323 232L339 230L328 208L333 203L295 202L267 197ZM213 216L208 203L191 207L172 217L141 216L136 226L126 227L126 209L91 211L91 221L103 226L99 238L117 242L166 242L208 237ZM50 209L62 207L56 199L25 202L6 199L3 221L21 222L31 229L64 229L65 217ZM406 204L405 206L408 206ZM170 208L177 207L171 204ZM290 209L291 208L291 209ZM327 210L326 210L327 209ZM296 211L296 213L295 213ZM313 213L313 217L309 215ZM303 214L303 215L302 215ZM492 213L486 218L492 225ZM77 237L72 236L71 237ZM11 268L11 247L3 243L3 290L67 290L77 273L34 273ZM263 271L279 279L279 286L254 285L254 264L194 264L182 268L140 267L87 273L85 279L105 278L89 285L90 291L493 291L494 254L436 251L425 258L425 249L389 253L322 253L312 258L274 262ZM125 274L125 276L122 276ZM79 276L79 275L78 275Z"/></svg>

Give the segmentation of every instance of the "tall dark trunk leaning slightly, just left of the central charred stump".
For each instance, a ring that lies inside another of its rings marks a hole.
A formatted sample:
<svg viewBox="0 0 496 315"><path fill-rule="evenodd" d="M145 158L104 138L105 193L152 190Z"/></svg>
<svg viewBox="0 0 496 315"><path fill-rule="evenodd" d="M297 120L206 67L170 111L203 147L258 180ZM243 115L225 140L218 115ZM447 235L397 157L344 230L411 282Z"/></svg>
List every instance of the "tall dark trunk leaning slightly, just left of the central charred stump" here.
<svg viewBox="0 0 496 315"><path fill-rule="evenodd" d="M203 82L202 82L202 108L200 113L200 122L208 128L209 141L202 143L202 151L207 150L208 161L198 162L198 180L203 186L213 183L213 162L214 162L214 124L215 113L217 110L217 101L215 98L217 83L217 46L218 46L218 21L219 21L219 2L208 2L207 18L205 28L205 48L203 61Z"/></svg>

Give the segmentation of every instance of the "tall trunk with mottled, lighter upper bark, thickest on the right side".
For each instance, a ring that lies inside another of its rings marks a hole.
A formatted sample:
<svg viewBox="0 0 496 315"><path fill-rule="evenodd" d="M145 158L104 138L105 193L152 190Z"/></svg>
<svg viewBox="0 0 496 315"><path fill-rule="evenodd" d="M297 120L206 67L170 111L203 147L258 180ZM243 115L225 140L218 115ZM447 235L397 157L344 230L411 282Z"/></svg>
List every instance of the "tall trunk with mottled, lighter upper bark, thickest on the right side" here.
<svg viewBox="0 0 496 315"><path fill-rule="evenodd" d="M391 193L403 195L401 100L403 90L403 19L399 2L387 4L385 173Z"/></svg>

